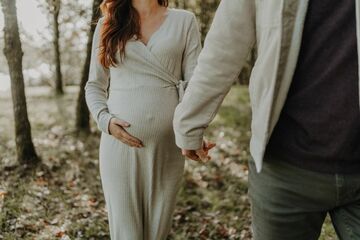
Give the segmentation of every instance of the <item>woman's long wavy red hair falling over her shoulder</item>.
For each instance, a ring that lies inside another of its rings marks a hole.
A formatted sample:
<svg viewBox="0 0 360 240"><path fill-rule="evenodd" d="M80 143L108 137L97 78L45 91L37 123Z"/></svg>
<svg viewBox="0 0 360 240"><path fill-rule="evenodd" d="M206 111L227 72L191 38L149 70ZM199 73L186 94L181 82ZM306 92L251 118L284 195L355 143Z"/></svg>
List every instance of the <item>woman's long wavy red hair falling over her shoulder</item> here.
<svg viewBox="0 0 360 240"><path fill-rule="evenodd" d="M158 0L159 5L168 6L168 0ZM100 9L104 16L101 29L99 59L109 68L117 65L116 54L125 56L125 45L140 34L140 17L132 0L104 0Z"/></svg>

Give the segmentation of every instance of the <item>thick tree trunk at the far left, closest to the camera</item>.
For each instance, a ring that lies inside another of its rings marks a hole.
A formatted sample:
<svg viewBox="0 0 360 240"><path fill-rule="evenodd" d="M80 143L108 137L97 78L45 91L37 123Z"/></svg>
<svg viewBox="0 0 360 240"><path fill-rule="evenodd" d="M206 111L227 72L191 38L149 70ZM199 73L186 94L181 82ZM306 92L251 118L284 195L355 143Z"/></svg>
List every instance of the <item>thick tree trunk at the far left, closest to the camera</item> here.
<svg viewBox="0 0 360 240"><path fill-rule="evenodd" d="M24 76L22 72L23 51L16 15L16 0L0 0L4 13L5 27L4 54L11 78L11 94L15 120L15 142L17 159L21 164L36 164L40 161L31 139L31 126L28 119Z"/></svg>

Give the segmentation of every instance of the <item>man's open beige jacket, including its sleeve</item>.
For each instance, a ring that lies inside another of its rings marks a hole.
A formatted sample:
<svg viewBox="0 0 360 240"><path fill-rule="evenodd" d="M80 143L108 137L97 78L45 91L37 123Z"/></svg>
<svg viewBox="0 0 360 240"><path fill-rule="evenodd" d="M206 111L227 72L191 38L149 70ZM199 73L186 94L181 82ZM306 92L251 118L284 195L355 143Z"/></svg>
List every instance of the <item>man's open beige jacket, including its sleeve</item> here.
<svg viewBox="0 0 360 240"><path fill-rule="evenodd" d="M360 46L360 0L355 1ZM295 71L308 2L221 1L198 66L175 112L174 130L179 147L201 147L204 130L215 117L252 47L257 46L258 57L249 85L252 107L250 152L257 170L261 171L266 145Z"/></svg>

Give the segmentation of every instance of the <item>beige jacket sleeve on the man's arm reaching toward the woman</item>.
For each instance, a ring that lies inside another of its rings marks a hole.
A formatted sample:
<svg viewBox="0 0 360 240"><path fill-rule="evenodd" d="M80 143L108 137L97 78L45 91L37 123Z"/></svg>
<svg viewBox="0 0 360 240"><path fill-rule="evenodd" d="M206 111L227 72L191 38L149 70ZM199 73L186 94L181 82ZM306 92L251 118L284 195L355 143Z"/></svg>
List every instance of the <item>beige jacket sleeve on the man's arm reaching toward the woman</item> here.
<svg viewBox="0 0 360 240"><path fill-rule="evenodd" d="M222 0L174 115L176 143L196 150L256 41L254 0Z"/></svg>

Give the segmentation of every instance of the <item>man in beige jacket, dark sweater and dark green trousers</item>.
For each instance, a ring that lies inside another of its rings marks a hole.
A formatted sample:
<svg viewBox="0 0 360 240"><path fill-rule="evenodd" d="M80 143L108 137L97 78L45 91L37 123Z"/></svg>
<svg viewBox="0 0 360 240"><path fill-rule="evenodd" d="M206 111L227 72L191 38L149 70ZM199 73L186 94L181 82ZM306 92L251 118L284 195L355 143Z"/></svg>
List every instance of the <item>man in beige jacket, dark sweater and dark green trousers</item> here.
<svg viewBox="0 0 360 240"><path fill-rule="evenodd" d="M357 37L358 36L358 37ZM174 117L194 160L251 49L255 240L360 239L360 0L223 0ZM257 171L256 171L257 170Z"/></svg>

